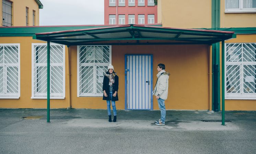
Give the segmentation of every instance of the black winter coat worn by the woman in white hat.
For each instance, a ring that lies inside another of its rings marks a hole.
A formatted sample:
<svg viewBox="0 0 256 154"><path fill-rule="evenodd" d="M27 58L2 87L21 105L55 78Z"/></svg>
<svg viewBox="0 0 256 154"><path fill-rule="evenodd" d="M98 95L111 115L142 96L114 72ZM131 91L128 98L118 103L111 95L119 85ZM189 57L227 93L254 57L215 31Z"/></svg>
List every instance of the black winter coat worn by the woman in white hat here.
<svg viewBox="0 0 256 154"><path fill-rule="evenodd" d="M109 73L106 72L106 74L109 74ZM107 97L105 97L105 96L104 96L104 93L103 93L103 100L110 100L110 96L109 96L109 85L108 85L108 84L109 84L109 78L104 75L102 90L103 90L103 91L104 91L104 90L106 91ZM114 94L115 92L117 92L117 91L118 91L118 76L116 75L116 76L115 76L115 82L114 82L114 84L113 84L113 94ZM116 97L113 97L113 96L112 96L112 101L118 101L118 92L116 93Z"/></svg>

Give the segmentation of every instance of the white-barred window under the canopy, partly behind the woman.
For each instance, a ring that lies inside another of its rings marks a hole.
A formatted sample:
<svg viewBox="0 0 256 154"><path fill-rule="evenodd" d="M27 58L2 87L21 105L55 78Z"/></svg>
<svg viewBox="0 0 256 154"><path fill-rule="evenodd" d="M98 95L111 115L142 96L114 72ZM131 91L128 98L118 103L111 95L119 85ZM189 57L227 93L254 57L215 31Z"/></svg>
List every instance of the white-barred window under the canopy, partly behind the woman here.
<svg viewBox="0 0 256 154"><path fill-rule="evenodd" d="M101 96L103 78L111 63L111 46L77 47L77 96Z"/></svg>

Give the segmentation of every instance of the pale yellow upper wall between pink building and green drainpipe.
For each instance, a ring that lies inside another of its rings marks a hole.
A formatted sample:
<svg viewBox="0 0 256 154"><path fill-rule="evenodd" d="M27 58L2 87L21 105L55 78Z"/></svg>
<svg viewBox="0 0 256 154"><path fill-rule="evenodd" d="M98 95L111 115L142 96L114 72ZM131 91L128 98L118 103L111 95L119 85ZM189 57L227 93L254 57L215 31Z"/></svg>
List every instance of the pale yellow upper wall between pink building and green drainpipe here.
<svg viewBox="0 0 256 154"><path fill-rule="evenodd" d="M211 28L211 0L161 0L158 5L163 27Z"/></svg>

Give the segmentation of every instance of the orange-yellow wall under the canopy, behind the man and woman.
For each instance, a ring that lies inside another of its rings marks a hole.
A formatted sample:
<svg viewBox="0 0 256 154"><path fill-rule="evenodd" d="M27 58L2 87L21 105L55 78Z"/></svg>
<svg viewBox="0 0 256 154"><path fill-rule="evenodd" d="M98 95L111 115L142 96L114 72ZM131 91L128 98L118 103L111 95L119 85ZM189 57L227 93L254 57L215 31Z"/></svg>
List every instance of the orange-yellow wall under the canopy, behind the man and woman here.
<svg viewBox="0 0 256 154"><path fill-rule="evenodd" d="M72 107L106 109L102 97L77 97L77 47L70 47L70 52ZM153 54L153 86L159 63L171 73L166 109L208 110L208 52L206 45L112 46L112 64L119 76L117 109L125 109L125 54ZM153 109L158 110L155 97Z"/></svg>

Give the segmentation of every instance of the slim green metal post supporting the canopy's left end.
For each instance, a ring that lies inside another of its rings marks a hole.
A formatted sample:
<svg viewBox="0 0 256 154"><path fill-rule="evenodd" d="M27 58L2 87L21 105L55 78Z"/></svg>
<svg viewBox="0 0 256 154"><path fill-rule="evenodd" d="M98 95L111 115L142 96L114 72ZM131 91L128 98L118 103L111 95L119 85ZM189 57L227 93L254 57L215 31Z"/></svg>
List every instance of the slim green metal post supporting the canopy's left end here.
<svg viewBox="0 0 256 154"><path fill-rule="evenodd" d="M50 41L47 41L47 123L50 122Z"/></svg>

